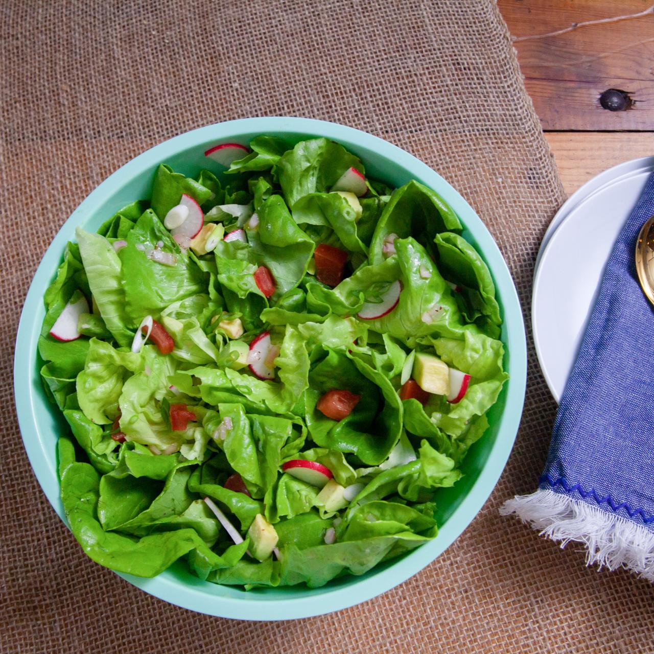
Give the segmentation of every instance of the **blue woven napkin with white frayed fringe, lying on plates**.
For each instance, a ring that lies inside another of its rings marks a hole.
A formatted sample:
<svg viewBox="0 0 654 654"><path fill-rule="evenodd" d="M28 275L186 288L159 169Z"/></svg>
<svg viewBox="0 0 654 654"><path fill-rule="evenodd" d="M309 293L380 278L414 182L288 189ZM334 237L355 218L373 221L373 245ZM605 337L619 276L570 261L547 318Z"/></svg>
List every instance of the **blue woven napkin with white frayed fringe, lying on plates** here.
<svg viewBox="0 0 654 654"><path fill-rule="evenodd" d="M654 580L654 310L634 265L638 232L652 215L654 175L608 260L540 487L501 512L562 547L585 543L588 563Z"/></svg>

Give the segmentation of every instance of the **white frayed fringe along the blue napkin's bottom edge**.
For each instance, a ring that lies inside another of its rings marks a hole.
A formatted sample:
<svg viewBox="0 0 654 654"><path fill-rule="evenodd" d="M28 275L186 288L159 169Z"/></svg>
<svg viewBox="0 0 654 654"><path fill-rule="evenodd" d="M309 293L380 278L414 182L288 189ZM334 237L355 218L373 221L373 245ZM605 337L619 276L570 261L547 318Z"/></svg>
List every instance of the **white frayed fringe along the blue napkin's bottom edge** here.
<svg viewBox="0 0 654 654"><path fill-rule="evenodd" d="M519 517L561 547L585 543L587 565L627 568L654 581L654 533L645 526L549 489L517 495L500 513Z"/></svg>

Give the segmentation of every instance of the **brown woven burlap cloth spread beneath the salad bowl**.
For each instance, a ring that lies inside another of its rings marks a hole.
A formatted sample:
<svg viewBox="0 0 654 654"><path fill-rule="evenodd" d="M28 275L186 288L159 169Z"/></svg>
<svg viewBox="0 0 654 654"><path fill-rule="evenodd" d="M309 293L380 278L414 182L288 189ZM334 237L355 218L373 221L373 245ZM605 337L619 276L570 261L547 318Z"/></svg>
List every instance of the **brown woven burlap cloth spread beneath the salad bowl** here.
<svg viewBox="0 0 654 654"><path fill-rule="evenodd" d="M589 570L574 547L498 515L534 489L555 414L532 349L515 449L472 525L396 589L302 621L191 613L95 565L46 502L18 433L14 336L48 243L122 163L213 122L308 116L409 150L489 226L527 314L538 245L564 194L492 2L4 0L0 12L1 651L654 649L649 583Z"/></svg>

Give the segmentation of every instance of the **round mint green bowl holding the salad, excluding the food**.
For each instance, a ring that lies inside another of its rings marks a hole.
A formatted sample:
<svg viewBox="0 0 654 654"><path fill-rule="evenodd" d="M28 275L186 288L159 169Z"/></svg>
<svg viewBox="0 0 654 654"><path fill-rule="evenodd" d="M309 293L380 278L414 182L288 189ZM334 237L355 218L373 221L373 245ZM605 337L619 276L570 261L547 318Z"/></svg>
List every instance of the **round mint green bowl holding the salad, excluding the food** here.
<svg viewBox="0 0 654 654"><path fill-rule="evenodd" d="M465 228L464 236L483 254L494 277L504 317L505 365L511 375L489 413L489 431L473 445L462 464L465 476L453 488L439 489L436 494L438 536L400 559L381 564L359 577L335 579L318 589L292 587L246 592L200 581L190 574L183 562L177 562L154 579L120 575L146 593L193 611L242 620L283 620L320 615L364 602L430 564L477 515L504 470L513 447L523 409L526 379L525 327L515 287L500 250L472 207L430 167L404 150L363 131L307 118L233 120L194 129L143 152L102 182L75 209L43 256L20 317L14 392L29 461L50 504L65 521L57 475L56 442L66 427L41 386L37 339L45 315L43 293L54 278L66 242L74 239L78 225L95 231L120 207L134 199L149 197L159 163L168 163L186 175L196 175L207 163L203 153L209 146L220 141L248 143L260 134L277 135L289 141L317 136L334 139L363 160L371 177L394 186L416 179L441 194L456 211ZM73 542L70 546L76 547ZM464 566L465 562L460 564Z"/></svg>

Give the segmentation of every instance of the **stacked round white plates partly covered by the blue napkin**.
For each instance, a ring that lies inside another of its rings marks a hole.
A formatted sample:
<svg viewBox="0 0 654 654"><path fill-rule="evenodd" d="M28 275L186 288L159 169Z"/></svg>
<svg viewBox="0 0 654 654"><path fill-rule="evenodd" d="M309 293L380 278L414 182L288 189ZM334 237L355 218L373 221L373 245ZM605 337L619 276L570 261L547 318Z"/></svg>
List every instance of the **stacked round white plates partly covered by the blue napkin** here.
<svg viewBox="0 0 654 654"><path fill-rule="evenodd" d="M653 171L654 156L600 173L570 196L543 237L534 273L532 328L540 367L557 402L613 243Z"/></svg>

